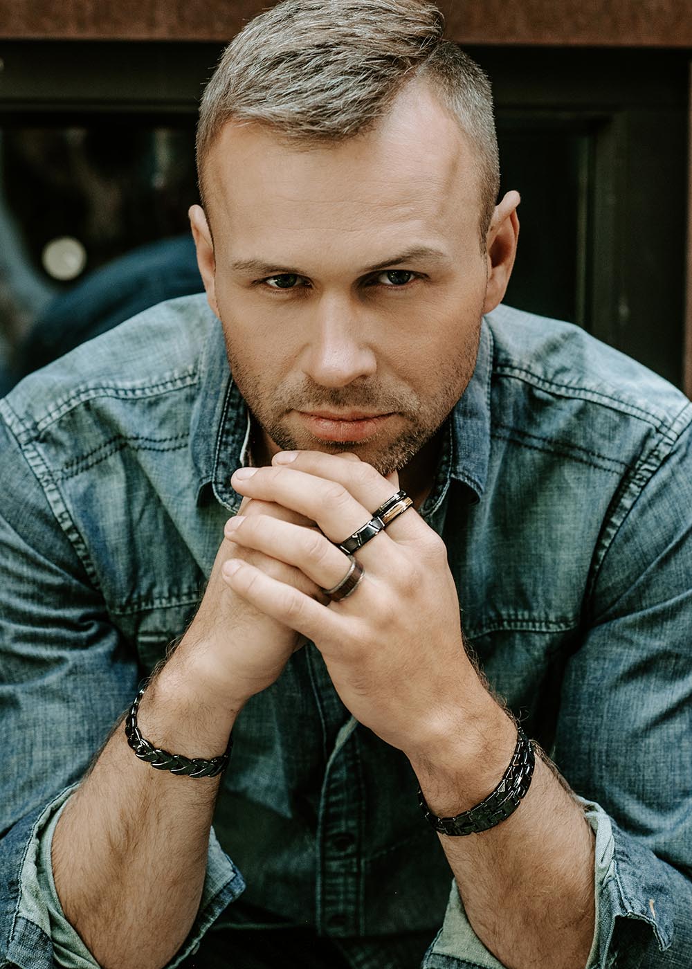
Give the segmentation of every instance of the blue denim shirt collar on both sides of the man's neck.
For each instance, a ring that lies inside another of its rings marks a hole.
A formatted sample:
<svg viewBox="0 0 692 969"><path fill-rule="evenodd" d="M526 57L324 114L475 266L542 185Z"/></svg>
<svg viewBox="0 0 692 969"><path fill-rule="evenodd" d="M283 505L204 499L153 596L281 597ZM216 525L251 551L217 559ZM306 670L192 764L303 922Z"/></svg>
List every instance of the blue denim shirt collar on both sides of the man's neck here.
<svg viewBox="0 0 692 969"><path fill-rule="evenodd" d="M470 503L477 503L483 494L490 454L491 376L492 335L484 319L473 375L447 422L435 482L423 509L426 517L442 504L451 479L465 485ZM210 485L217 501L235 513L242 498L231 486L231 475L248 461L250 418L231 377L218 320L204 346L200 383L190 444L198 478L197 500L203 499L204 489Z"/></svg>

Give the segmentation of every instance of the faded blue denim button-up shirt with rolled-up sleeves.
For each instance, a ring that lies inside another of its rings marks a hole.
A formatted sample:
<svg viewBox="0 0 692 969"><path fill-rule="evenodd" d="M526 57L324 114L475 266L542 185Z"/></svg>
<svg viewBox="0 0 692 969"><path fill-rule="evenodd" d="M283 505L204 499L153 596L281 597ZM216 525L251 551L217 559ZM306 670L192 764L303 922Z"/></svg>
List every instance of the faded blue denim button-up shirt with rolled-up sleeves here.
<svg viewBox="0 0 692 969"><path fill-rule="evenodd" d="M79 347L0 412L0 966L95 965L70 945L49 836L194 614L240 504L248 416L204 296ZM492 689L596 831L588 969L692 963L691 420L638 363L501 306L422 509ZM171 966L236 921L243 891L325 936L429 931L426 969L500 966L407 759L351 717L313 644L234 736L202 904Z"/></svg>

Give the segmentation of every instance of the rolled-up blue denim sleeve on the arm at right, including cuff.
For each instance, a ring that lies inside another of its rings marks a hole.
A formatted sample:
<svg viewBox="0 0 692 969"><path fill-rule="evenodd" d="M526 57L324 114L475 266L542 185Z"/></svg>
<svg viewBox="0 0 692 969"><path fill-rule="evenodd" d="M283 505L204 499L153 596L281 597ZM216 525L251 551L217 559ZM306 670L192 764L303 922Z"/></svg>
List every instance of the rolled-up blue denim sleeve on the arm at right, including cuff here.
<svg viewBox="0 0 692 969"><path fill-rule="evenodd" d="M692 965L690 436L623 484L595 550L585 632L565 665L550 755L596 832L586 969ZM502 969L454 883L423 965Z"/></svg>

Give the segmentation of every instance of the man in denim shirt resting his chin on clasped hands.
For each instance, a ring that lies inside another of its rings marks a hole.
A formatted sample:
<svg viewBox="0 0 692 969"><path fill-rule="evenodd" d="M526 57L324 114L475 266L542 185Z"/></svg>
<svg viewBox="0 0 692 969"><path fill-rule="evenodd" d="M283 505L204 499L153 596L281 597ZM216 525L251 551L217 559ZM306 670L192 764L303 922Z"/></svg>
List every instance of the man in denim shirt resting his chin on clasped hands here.
<svg viewBox="0 0 692 969"><path fill-rule="evenodd" d="M2 404L6 964L689 962L692 407L499 306L519 196L441 28L252 21L208 308Z"/></svg>

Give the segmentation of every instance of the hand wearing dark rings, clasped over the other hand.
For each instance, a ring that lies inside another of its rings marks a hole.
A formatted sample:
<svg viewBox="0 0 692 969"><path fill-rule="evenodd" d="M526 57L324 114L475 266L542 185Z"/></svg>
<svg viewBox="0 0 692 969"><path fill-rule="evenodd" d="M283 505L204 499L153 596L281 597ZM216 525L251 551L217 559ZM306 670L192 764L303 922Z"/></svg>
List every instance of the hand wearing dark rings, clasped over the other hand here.
<svg viewBox="0 0 692 969"><path fill-rule="evenodd" d="M221 575L233 591L313 641L336 692L356 719L407 754L425 756L464 696L480 686L466 656L454 579L439 536L413 508L358 550L364 575L354 593L331 602L320 589L347 573L343 542L397 490L351 454L282 452L271 466L241 468L232 478L246 498L296 513L300 521L242 514L228 540L285 563L314 583L310 595L233 554ZM255 561L265 559L256 556ZM304 587L305 583L303 583Z"/></svg>

